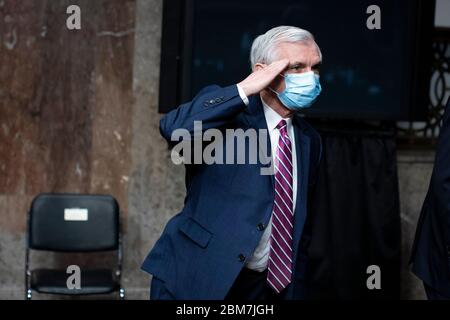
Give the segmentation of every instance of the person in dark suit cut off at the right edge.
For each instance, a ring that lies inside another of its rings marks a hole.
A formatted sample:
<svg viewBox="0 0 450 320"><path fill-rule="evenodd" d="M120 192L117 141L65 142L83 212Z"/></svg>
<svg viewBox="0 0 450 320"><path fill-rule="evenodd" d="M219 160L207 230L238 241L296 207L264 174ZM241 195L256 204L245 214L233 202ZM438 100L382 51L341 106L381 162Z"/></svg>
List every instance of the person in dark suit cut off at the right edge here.
<svg viewBox="0 0 450 320"><path fill-rule="evenodd" d="M436 149L430 187L417 224L411 262L428 299L450 299L450 99Z"/></svg>

